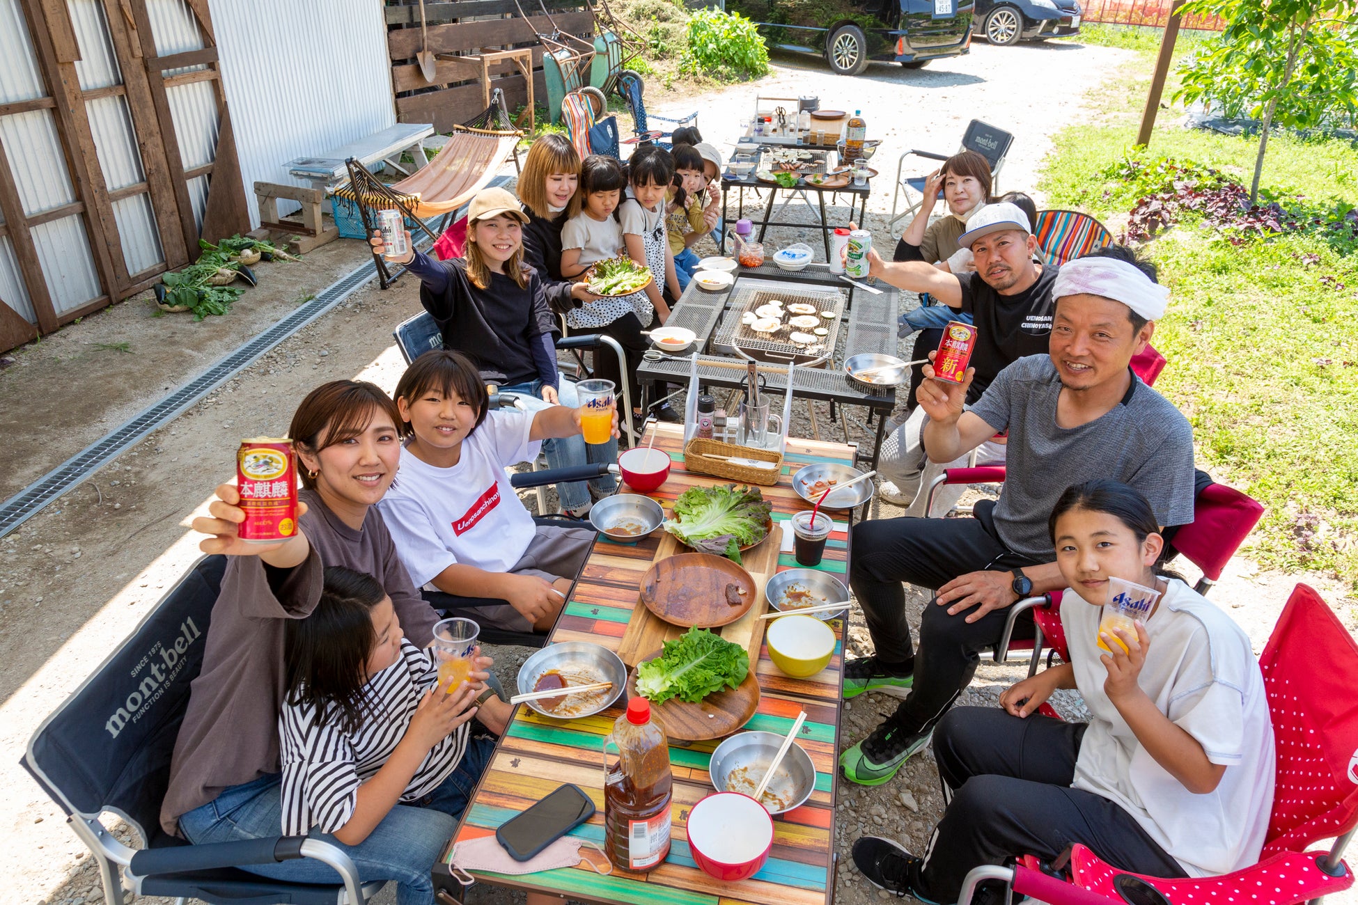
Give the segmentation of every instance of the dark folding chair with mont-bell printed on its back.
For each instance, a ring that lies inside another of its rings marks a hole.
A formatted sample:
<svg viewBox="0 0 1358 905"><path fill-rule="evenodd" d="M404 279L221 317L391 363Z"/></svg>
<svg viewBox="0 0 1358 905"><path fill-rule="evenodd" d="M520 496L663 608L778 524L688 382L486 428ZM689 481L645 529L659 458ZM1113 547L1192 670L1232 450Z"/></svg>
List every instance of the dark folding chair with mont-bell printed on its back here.
<svg viewBox="0 0 1358 905"><path fill-rule="evenodd" d="M189 706L189 684L217 600L225 556L204 556L171 588L117 650L29 739L23 767L67 813L103 879L105 901L128 891L205 902L361 905L382 889L363 885L348 855L307 836L190 845L160 829L170 756ZM122 817L145 848L118 841L100 821ZM314 858L335 870L334 883L288 883L240 870Z"/></svg>

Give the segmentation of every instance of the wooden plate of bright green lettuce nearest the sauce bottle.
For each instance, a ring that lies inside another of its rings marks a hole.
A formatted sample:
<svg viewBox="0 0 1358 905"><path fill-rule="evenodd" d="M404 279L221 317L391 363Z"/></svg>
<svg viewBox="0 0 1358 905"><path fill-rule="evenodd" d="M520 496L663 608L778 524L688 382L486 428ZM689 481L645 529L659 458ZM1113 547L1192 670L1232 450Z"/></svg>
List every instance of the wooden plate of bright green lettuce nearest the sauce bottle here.
<svg viewBox="0 0 1358 905"><path fill-rule="evenodd" d="M627 676L627 696L650 701L665 734L680 741L729 735L759 707L759 682L744 647L705 628L667 640Z"/></svg>

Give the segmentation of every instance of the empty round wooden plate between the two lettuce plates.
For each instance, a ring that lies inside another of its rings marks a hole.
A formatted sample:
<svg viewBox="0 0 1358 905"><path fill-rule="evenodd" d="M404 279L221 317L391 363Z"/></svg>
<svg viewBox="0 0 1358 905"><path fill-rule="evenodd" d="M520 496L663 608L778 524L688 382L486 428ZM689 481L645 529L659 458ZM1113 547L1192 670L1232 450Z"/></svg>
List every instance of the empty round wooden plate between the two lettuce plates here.
<svg viewBox="0 0 1358 905"><path fill-rule="evenodd" d="M740 602L727 602L727 586L744 594ZM725 556L675 554L650 567L641 579L641 602L657 619L684 628L729 625L754 606L759 589L755 579Z"/></svg>

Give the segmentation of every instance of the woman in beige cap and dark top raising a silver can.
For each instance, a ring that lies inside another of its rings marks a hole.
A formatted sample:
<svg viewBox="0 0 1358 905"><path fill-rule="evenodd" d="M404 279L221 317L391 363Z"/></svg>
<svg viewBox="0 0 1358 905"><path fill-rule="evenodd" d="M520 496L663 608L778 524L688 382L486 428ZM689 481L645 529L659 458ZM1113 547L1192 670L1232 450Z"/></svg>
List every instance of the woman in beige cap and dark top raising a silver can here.
<svg viewBox="0 0 1358 905"><path fill-rule="evenodd" d="M463 258L435 261L411 244L406 265L420 277L420 304L439 323L444 349L470 355L486 383L519 393L532 412L550 404L576 407L574 384L557 372L557 319L543 297L538 271L524 263L523 228L528 214L504 189L482 189L467 209ZM380 239L372 239L379 248ZM618 441L587 445L581 437L542 444L550 468L612 463ZM561 510L583 518L591 498L617 490L611 475L557 486Z"/></svg>

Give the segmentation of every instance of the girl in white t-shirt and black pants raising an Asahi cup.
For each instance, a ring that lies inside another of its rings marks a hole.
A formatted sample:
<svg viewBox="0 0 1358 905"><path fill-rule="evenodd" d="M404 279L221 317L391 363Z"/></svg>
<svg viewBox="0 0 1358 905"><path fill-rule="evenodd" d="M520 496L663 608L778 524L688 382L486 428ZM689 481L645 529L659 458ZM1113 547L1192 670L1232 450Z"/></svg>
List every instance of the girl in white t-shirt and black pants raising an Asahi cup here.
<svg viewBox="0 0 1358 905"><path fill-rule="evenodd" d="M1069 583L1070 662L1009 688L1002 711L959 707L938 722L933 749L949 803L926 856L884 839L854 844L854 863L880 887L952 902L974 867L1020 855L1051 862L1074 843L1149 877L1259 860L1274 738L1249 638L1158 569L1165 543L1133 487L1070 487L1048 524ZM1145 620L1112 635L1099 631L1109 578L1160 592ZM1088 723L1036 714L1058 688L1080 691ZM993 898L978 901L1002 901L985 894Z"/></svg>

